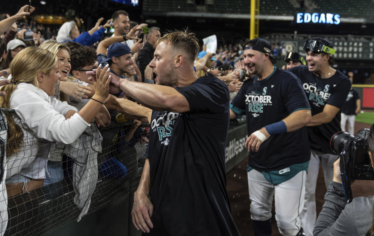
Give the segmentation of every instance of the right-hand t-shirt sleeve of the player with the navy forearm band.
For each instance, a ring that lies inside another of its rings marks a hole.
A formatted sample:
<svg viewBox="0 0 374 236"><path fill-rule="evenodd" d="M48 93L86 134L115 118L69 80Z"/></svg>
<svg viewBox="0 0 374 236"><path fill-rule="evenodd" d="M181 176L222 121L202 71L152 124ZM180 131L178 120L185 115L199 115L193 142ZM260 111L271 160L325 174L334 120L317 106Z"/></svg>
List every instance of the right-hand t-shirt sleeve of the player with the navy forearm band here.
<svg viewBox="0 0 374 236"><path fill-rule="evenodd" d="M290 114L298 110L310 109L301 81L294 76L284 85L281 95Z"/></svg>

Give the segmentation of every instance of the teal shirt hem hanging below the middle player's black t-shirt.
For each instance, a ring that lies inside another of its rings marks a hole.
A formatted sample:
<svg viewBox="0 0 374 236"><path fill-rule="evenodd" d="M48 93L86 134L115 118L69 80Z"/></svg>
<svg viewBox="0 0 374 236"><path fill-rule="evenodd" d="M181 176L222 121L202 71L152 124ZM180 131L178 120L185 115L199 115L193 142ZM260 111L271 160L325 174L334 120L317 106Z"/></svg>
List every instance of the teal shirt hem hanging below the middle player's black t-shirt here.
<svg viewBox="0 0 374 236"><path fill-rule="evenodd" d="M304 170L308 173L308 166L309 161L301 164L290 165L289 167L283 168L282 170L262 171L262 174L264 175L266 180L269 181L269 183L280 184L291 179L300 171ZM253 170L253 168L247 165L247 172L251 170Z"/></svg>

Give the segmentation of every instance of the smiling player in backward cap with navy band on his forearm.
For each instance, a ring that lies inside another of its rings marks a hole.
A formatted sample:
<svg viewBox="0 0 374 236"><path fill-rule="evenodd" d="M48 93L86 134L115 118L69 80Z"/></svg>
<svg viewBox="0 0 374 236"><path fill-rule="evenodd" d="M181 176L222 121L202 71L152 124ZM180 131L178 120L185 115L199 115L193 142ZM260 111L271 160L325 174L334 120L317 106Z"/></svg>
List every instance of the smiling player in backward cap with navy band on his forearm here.
<svg viewBox="0 0 374 236"><path fill-rule="evenodd" d="M230 118L246 115L247 166L251 219L256 236L272 233L272 202L282 235L303 235L299 214L310 150L307 130L309 102L300 80L273 66L270 43L255 38L244 47L249 74L230 104Z"/></svg>

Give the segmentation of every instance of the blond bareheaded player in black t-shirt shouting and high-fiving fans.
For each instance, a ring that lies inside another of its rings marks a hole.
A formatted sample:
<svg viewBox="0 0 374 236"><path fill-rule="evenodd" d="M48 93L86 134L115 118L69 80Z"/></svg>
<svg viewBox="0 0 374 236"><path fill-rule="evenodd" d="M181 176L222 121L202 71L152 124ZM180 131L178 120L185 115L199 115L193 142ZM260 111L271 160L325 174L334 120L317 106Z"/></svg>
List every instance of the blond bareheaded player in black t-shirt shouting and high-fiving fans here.
<svg viewBox="0 0 374 236"><path fill-rule="evenodd" d="M147 235L239 235L226 191L229 90L218 78L197 77L194 34L170 32L155 47L156 85L111 80L153 109L133 223Z"/></svg>

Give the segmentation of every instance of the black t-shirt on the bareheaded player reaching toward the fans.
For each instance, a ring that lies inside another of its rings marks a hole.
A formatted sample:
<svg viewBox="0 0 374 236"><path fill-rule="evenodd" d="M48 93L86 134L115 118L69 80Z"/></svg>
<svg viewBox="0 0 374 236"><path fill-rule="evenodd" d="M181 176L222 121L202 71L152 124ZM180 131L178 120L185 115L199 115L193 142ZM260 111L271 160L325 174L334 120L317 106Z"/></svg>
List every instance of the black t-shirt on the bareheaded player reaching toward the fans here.
<svg viewBox="0 0 374 236"><path fill-rule="evenodd" d="M175 88L190 111L153 111L149 148L154 229L147 235L239 235L226 191L229 90L204 76Z"/></svg>

